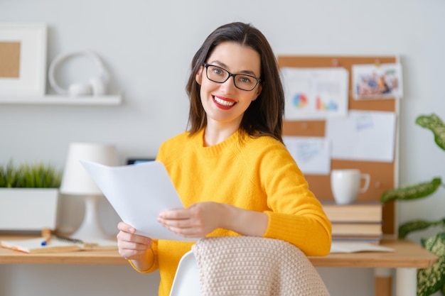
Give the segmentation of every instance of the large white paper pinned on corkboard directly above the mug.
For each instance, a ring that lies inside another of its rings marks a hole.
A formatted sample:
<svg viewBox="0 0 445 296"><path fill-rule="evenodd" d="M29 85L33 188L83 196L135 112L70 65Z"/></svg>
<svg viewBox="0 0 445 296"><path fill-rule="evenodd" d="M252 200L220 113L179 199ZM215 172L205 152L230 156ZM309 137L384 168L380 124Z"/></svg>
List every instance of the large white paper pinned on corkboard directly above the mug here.
<svg viewBox="0 0 445 296"><path fill-rule="evenodd" d="M331 158L390 163L395 153L396 115L387 111L350 110L345 118L326 120Z"/></svg>

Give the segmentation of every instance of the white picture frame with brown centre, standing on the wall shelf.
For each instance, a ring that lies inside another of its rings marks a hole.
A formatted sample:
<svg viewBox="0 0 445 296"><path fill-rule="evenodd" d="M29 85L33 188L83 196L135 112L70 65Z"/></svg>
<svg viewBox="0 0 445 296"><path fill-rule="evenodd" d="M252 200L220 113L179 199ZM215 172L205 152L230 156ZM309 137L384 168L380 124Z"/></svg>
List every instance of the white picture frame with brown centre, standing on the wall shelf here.
<svg viewBox="0 0 445 296"><path fill-rule="evenodd" d="M3 75L0 75L0 96L45 94L47 31L47 26L43 23L0 23L0 61L8 61L10 54L14 58L18 55L18 63L11 66L18 67L15 71L17 75L9 77L8 73L14 71L8 72L8 69L3 69ZM11 50L1 50L11 44L18 45L14 53Z"/></svg>

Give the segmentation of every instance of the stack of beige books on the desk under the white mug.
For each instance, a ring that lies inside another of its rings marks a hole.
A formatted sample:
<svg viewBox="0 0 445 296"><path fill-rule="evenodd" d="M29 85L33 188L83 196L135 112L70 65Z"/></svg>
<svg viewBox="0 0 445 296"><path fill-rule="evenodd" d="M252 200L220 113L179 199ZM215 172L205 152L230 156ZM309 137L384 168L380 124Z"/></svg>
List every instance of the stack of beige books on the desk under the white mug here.
<svg viewBox="0 0 445 296"><path fill-rule="evenodd" d="M382 238L382 204L323 204L332 224L333 241L379 243Z"/></svg>

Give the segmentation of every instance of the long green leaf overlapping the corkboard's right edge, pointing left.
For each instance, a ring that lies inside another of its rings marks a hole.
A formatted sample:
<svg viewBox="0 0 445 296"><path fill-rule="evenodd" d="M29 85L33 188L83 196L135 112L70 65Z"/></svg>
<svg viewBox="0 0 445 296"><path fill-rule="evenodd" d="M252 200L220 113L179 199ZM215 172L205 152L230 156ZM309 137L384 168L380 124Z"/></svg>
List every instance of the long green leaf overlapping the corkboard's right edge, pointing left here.
<svg viewBox="0 0 445 296"><path fill-rule="evenodd" d="M440 177L435 177L430 182L421 182L414 185L402 186L382 193L380 201L382 203L391 202L393 200L419 199L427 197L436 192L437 188L442 184Z"/></svg>

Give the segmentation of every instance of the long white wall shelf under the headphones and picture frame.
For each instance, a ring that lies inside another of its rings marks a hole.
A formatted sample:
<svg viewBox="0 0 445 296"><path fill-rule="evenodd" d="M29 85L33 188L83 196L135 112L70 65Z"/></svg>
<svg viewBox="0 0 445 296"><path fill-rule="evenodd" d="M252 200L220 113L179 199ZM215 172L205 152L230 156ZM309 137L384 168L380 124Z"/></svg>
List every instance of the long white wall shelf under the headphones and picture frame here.
<svg viewBox="0 0 445 296"><path fill-rule="evenodd" d="M60 95L45 96L0 96L0 104L47 104L47 105L119 105L121 95L68 97Z"/></svg>

